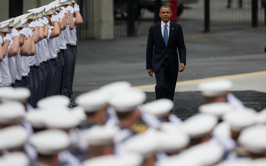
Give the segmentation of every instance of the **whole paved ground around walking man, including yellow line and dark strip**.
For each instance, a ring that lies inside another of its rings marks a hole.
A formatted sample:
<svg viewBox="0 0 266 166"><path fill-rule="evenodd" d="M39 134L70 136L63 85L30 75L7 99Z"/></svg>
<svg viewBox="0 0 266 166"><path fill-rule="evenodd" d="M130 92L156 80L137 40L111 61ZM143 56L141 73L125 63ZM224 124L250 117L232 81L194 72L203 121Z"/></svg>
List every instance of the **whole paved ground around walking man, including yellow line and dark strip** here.
<svg viewBox="0 0 266 166"><path fill-rule="evenodd" d="M173 113L182 120L198 113L202 100L197 84L213 77L231 79L233 94L245 106L257 111L266 108L265 30L184 34L184 38L187 63L177 79ZM74 97L126 80L147 91L146 102L155 100L155 77L148 76L146 70L146 40L147 37L132 37L79 41Z"/></svg>

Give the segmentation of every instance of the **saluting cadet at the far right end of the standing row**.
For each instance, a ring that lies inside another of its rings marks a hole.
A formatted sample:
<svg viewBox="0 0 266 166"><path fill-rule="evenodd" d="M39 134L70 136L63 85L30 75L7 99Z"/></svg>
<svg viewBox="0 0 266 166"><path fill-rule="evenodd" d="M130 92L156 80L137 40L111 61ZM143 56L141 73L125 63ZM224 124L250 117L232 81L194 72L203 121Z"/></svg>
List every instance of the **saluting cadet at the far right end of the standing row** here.
<svg viewBox="0 0 266 166"><path fill-rule="evenodd" d="M75 3L75 2L73 2ZM70 100L73 101L73 80L74 80L74 73L75 73L75 65L76 65L76 60L77 60L77 34L76 34L76 26L83 24L83 19L80 14L80 6L78 6L76 3L74 4L74 12L76 14L76 17L74 18L74 29L70 31L70 49L72 52L73 56L73 64L71 68L71 80L70 80Z"/></svg>

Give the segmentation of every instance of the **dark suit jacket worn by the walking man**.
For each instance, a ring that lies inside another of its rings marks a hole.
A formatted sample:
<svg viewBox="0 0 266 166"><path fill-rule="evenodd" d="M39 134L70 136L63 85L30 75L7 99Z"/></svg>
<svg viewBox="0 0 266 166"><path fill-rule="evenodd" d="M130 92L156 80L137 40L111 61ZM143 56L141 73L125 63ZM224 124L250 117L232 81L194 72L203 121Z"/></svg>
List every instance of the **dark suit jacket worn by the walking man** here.
<svg viewBox="0 0 266 166"><path fill-rule="evenodd" d="M152 25L149 29L147 42L146 69L152 69L153 72L156 72L163 63L165 53L167 53L170 70L172 73L177 73L179 71L177 49L180 63L186 65L186 46L180 24L170 21L167 46L163 40L161 22Z"/></svg>

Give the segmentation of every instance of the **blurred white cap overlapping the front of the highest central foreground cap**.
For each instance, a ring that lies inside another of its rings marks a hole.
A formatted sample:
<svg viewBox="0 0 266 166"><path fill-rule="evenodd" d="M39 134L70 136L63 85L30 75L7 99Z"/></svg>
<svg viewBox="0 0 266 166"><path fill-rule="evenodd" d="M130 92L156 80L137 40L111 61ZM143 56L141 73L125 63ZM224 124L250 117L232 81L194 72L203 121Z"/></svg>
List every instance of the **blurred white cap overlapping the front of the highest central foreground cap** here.
<svg viewBox="0 0 266 166"><path fill-rule="evenodd" d="M146 93L138 90L130 90L110 99L109 104L117 112L130 112L146 100Z"/></svg>

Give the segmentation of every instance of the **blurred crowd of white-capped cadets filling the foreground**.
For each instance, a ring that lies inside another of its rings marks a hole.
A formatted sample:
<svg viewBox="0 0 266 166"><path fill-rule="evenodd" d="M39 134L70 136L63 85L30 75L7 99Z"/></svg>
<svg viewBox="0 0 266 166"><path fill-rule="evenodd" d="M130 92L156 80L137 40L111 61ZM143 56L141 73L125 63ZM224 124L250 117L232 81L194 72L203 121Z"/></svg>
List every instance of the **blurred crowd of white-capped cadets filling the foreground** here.
<svg viewBox="0 0 266 166"><path fill-rule="evenodd" d="M1 166L265 166L266 109L246 108L229 80L202 82L204 104L182 121L169 99L114 82L28 107L26 88L0 88ZM182 101L181 101L182 102ZM189 109L188 109L189 110Z"/></svg>

